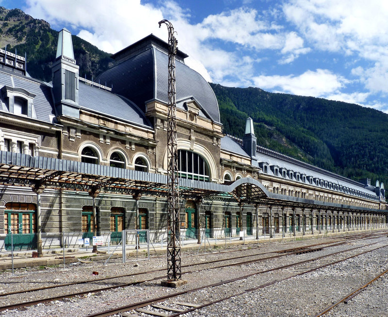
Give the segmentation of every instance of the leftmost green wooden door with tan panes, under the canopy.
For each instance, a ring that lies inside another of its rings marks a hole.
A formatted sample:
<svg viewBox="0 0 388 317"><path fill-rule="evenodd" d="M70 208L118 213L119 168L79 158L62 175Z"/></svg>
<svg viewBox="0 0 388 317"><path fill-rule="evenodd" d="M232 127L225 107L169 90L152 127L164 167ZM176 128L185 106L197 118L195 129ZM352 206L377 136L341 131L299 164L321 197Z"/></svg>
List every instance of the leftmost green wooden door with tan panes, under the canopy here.
<svg viewBox="0 0 388 317"><path fill-rule="evenodd" d="M34 250L37 245L35 233L35 211L33 210L5 210L4 229L7 233L5 237L5 249L11 250ZM13 237L11 238L11 232Z"/></svg>

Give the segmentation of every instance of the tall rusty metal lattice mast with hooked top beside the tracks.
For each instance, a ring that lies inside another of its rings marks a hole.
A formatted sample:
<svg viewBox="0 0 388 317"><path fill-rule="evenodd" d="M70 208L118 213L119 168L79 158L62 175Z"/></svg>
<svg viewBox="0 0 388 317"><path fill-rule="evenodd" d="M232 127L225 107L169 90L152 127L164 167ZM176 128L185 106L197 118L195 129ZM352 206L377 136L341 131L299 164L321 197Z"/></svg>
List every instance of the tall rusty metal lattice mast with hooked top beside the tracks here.
<svg viewBox="0 0 388 317"><path fill-rule="evenodd" d="M167 114L167 174L168 174L168 245L167 280L178 281L182 277L180 269L179 243L179 191L178 191L178 150L177 150L177 104L175 91L175 55L178 41L174 27L168 20L159 22L168 29L168 114Z"/></svg>

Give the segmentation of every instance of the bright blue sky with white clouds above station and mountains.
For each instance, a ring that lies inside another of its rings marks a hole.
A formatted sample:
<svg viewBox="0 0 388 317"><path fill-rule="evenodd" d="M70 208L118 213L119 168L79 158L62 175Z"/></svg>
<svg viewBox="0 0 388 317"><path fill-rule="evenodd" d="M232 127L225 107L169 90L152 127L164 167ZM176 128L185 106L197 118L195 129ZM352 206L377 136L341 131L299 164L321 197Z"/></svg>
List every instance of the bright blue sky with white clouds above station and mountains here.
<svg viewBox="0 0 388 317"><path fill-rule="evenodd" d="M231 87L322 97L388 113L388 1L0 0L114 53L177 31L186 63Z"/></svg>

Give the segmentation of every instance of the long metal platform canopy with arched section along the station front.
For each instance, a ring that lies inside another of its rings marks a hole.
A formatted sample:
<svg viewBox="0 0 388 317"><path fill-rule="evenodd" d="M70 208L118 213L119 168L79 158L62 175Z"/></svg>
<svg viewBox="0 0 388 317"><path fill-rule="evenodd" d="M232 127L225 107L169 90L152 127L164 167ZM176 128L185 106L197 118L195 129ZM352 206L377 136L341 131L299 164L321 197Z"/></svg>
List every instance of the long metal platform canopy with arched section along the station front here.
<svg viewBox="0 0 388 317"><path fill-rule="evenodd" d="M169 189L167 182L167 175L162 174L0 151L0 184L6 186L165 197ZM179 195L185 199L211 197L214 200L237 200L243 204L280 208L388 212L275 194L253 178L224 184L179 179Z"/></svg>

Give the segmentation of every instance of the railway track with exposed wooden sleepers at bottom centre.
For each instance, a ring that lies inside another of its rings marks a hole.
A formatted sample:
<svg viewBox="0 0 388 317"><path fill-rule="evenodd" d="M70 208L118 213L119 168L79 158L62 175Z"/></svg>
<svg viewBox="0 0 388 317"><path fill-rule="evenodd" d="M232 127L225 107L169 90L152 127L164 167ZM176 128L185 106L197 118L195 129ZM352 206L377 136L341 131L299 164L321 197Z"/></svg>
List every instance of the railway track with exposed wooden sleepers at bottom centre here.
<svg viewBox="0 0 388 317"><path fill-rule="evenodd" d="M114 314L120 314L123 317L141 316L139 314L147 314L150 316L178 317L178 316L181 316L183 314L190 313L194 310L198 310L200 308L210 306L210 305L218 303L218 302L226 301L232 297L240 296L240 295L246 294L248 292L253 292L253 291L256 291L260 288L269 287L271 285L274 285L275 283L286 281L286 280L291 279L295 276L307 274L309 272L316 271L318 269L327 267L329 265L333 265L333 264L348 260L350 258L357 257L359 255L366 254L366 253L369 253L369 252L372 252L372 251L375 251L375 250L378 250L380 248L384 248L384 247L388 246L388 244L385 244L385 245L377 247L377 248L372 248L372 249L364 250L364 251L359 250L358 252L355 252L356 249L370 247L373 244L375 244L375 243L370 243L368 245L352 248L352 249L346 250L346 251L336 252L336 253L330 254L328 256L317 257L317 258L314 258L311 260L306 260L306 261L302 261L299 263L293 263L293 264L281 266L281 267L278 267L275 269L270 269L270 270L265 270L265 271L247 274L247 275L244 275L242 277L234 278L234 279L227 280L227 281L220 282L220 283L210 284L210 285L207 285L204 287L197 287L194 289L181 291L181 292L178 292L175 294L170 294L170 295L162 296L159 298L152 298L152 299L149 299L149 300L146 300L143 302L135 302L135 303L132 303L132 304L129 304L126 306L117 307L117 308L110 309L110 310L107 310L104 312L99 312L96 314L91 314L91 315L88 315L87 317L109 317L109 316L112 316ZM322 261L323 259L330 259L330 260ZM274 281L271 281L269 283L261 284L257 287L249 288L249 289L243 290L241 292L235 292L231 295L219 298L215 301L204 302L204 303L194 303L193 304L190 302L189 303L180 302L179 300L177 300L177 297L179 297L181 295L189 294L189 293L193 293L194 298L198 298L198 297L201 298L202 296L195 295L194 293L197 291L206 289L206 288L213 288L213 287L218 287L218 286L224 286L224 285L229 284L229 283L234 283L236 281L240 281L242 279L246 279L246 278L252 277L252 276L257 275L257 274L262 274L262 273L266 273L266 272L273 272L273 271L282 270L282 269L290 269L291 267L296 267L296 266L300 266L302 264L307 264L307 263L310 263L311 265L308 267L305 267L305 269L303 271L301 270L299 272L296 272L296 274L292 274L291 276L288 276L285 278L275 279ZM317 263L318 263L318 265L316 265ZM162 302L162 305L158 304L161 302ZM155 306L155 304L157 304L157 306ZM185 304L189 304L189 305L185 305ZM162 306L162 307L158 307L158 305ZM174 311L174 310L178 310L178 311ZM173 314L171 314L171 312L173 312ZM144 315L142 315L142 316L144 316Z"/></svg>

